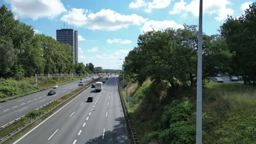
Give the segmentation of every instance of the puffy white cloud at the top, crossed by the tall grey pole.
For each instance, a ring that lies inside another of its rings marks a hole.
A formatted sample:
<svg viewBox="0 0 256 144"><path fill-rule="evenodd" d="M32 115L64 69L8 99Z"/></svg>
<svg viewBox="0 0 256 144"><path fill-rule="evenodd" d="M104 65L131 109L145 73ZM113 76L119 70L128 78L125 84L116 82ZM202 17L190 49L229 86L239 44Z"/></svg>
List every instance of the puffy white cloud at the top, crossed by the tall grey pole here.
<svg viewBox="0 0 256 144"><path fill-rule="evenodd" d="M217 15L214 17L217 21L225 20L228 15L234 14L234 10L227 8L231 4L229 0L223 0L222 2L216 0L208 0L203 3L203 13L210 15ZM199 0L193 0L189 4L184 3L183 0L174 4L174 9L171 10L170 14L181 14L182 11L185 13L182 16L187 16L188 13L192 13L194 16L199 16Z"/></svg>

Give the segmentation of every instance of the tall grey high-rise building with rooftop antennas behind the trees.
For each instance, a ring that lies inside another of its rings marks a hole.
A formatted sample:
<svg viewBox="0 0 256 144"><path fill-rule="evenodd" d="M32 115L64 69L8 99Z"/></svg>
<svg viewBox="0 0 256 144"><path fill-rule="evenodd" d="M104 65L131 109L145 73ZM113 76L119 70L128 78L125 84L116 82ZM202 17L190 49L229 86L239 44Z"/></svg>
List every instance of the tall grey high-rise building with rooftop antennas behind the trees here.
<svg viewBox="0 0 256 144"><path fill-rule="evenodd" d="M71 28L56 30L56 39L60 43L69 44L73 47L74 61L78 62L78 33Z"/></svg>

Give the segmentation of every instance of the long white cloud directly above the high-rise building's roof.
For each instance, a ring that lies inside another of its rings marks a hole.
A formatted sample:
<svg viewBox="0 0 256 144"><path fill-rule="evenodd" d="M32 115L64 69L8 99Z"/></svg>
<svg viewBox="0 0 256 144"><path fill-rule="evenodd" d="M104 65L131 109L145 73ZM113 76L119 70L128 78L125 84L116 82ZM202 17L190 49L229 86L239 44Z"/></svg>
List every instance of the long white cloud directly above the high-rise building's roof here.
<svg viewBox="0 0 256 144"><path fill-rule="evenodd" d="M142 16L136 14L121 15L110 9L102 9L96 14L86 9L73 8L66 15L61 17L62 21L72 21L77 27L84 27L92 30L116 31L132 25L140 26L145 22Z"/></svg>

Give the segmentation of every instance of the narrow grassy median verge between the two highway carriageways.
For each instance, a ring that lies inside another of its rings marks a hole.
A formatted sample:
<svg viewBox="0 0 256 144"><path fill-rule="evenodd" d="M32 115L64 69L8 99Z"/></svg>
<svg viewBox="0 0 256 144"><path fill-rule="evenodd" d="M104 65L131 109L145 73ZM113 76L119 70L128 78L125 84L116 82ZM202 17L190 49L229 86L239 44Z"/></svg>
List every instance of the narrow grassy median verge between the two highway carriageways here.
<svg viewBox="0 0 256 144"><path fill-rule="evenodd" d="M98 78L96 80L94 80L93 82L97 81L101 79ZM13 132L14 130L20 128L22 125L32 121L35 117L39 116L40 114L46 112L47 110L50 110L52 107L56 106L57 104L60 104L62 101L66 100L67 98L71 97L71 95L79 92L80 90L86 88L86 87L89 87L91 85L91 83L93 82L90 82L88 83L87 85L83 86L83 87L80 87L78 89L75 89L74 91L72 91L71 93L61 97L60 99L54 101L53 103L43 107L42 109L38 109L38 110L33 110L29 113L27 113L27 115L25 117L23 117L22 119L20 119L19 121L11 124L9 127L7 128L4 128L2 130L0 130L0 139L4 136L6 136L7 134ZM82 92L80 92L82 93ZM80 93L78 93L77 95L79 95ZM77 96L75 95L75 97ZM47 117L49 117L52 113L54 113L55 111L59 110L62 106L64 106L65 104L68 103L68 101L71 101L73 98L75 97L72 97L71 99L67 100L65 103L62 103L61 105L59 105L58 107L56 107L56 109L54 109L53 111L51 111L50 113L46 114L45 116L43 116L42 118L38 119L38 121L36 121L35 123L31 124L29 127L27 127L26 129L22 130L19 134L11 137L10 140L8 140L7 142L5 143L12 143L14 142L15 140L17 140L21 135L24 135L25 133L27 133L27 131L31 130L33 127L35 127L37 124L39 124L40 122L42 122L44 119L46 119Z"/></svg>

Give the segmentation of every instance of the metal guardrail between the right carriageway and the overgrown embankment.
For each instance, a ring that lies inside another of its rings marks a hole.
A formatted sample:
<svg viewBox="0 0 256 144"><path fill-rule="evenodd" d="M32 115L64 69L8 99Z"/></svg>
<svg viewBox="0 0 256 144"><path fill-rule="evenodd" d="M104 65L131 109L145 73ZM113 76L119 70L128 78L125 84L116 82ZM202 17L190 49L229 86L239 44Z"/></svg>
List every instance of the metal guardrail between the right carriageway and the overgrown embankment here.
<svg viewBox="0 0 256 144"><path fill-rule="evenodd" d="M121 99L121 104L122 104L122 107L123 107L123 110L124 110L124 115L125 115L126 121L128 122L130 131L131 131L133 143L138 144L139 141L138 141L135 129L133 128L133 124L131 122L131 117L128 113L127 107L126 107L125 102L124 102L123 94L121 93L121 90L120 90L119 86L118 86L118 92L119 92L119 96L120 96L120 99Z"/></svg>

